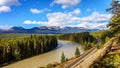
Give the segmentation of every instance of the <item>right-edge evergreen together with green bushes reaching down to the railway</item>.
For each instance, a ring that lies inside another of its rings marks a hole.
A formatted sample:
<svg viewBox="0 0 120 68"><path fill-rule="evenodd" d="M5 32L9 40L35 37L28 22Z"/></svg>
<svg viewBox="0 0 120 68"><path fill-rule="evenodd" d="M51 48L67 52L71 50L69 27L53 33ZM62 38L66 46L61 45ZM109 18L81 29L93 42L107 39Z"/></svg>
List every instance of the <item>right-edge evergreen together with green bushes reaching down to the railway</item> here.
<svg viewBox="0 0 120 68"><path fill-rule="evenodd" d="M112 18L108 24L110 29L103 30L100 32L92 33L93 36L101 39L101 44L98 45L98 48L102 47L111 37L114 37L120 34L120 1L112 0L111 8L108 8L107 11L112 13Z"/></svg>

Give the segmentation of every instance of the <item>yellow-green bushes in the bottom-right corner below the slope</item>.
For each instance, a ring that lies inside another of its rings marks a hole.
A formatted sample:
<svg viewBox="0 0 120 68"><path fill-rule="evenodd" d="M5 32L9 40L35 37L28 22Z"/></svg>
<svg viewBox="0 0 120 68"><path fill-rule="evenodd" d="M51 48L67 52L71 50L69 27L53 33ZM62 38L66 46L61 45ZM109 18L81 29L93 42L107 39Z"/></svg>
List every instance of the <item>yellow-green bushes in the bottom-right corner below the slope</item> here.
<svg viewBox="0 0 120 68"><path fill-rule="evenodd" d="M94 68L120 68L120 54L106 55L94 64Z"/></svg>

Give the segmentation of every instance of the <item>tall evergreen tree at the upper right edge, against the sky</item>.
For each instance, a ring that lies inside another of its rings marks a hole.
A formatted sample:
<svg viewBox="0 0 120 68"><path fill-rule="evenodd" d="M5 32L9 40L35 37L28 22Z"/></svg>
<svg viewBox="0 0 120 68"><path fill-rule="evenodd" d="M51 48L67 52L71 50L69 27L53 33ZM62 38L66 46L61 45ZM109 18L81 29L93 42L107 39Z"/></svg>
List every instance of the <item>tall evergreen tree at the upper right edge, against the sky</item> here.
<svg viewBox="0 0 120 68"><path fill-rule="evenodd" d="M120 1L112 0L111 8L108 8L107 11L113 14L108 27L110 31L115 35L120 33Z"/></svg>

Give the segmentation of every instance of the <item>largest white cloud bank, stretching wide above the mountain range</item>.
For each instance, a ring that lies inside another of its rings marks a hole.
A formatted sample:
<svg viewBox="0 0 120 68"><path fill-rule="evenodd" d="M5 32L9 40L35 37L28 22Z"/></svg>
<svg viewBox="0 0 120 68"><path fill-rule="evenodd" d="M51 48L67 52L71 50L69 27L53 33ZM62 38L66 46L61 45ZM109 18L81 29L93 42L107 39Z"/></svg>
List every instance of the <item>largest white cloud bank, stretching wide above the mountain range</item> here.
<svg viewBox="0 0 120 68"><path fill-rule="evenodd" d="M86 17L79 17L80 9L75 9L72 12L54 12L48 13L46 16L48 21L31 21L26 20L24 24L39 24L42 26L75 26L88 29L105 29L111 14L101 14L93 12Z"/></svg>

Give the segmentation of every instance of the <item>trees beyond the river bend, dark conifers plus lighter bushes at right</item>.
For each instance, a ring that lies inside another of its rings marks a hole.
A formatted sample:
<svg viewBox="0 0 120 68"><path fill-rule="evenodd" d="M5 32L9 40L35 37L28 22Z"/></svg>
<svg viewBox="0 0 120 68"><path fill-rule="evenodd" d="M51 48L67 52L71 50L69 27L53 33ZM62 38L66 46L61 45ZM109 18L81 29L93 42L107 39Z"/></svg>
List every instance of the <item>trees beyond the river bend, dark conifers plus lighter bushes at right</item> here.
<svg viewBox="0 0 120 68"><path fill-rule="evenodd" d="M60 34L58 35L58 39L80 43L83 45L85 50L92 48L97 42L96 38L90 35L89 32Z"/></svg>

